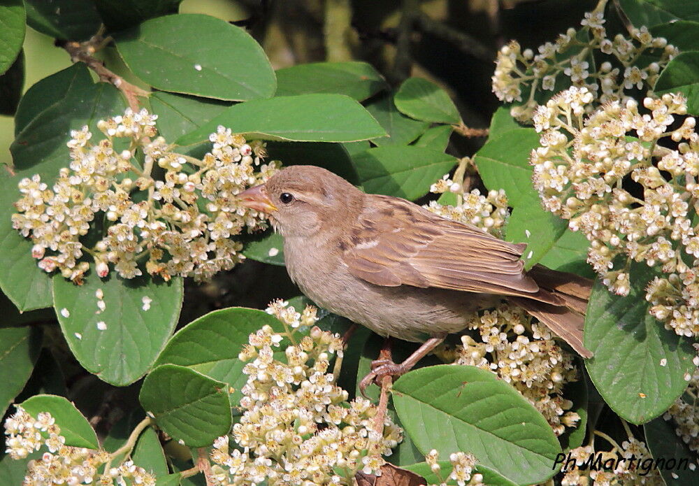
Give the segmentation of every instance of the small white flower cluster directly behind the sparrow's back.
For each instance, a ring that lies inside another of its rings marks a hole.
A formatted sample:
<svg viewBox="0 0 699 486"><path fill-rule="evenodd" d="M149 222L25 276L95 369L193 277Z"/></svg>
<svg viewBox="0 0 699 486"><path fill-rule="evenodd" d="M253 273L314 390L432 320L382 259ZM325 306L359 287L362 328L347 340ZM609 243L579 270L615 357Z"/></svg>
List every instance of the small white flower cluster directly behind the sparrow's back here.
<svg viewBox="0 0 699 486"><path fill-rule="evenodd" d="M473 224L498 237L503 236L503 230L510 213L507 210L507 196L504 190L490 191L487 195L474 189L463 192L463 185L449 179L449 174L433 184L431 192L442 194L443 192L456 193L456 205L440 204L430 201L424 208L447 220L458 221L464 224Z"/></svg>

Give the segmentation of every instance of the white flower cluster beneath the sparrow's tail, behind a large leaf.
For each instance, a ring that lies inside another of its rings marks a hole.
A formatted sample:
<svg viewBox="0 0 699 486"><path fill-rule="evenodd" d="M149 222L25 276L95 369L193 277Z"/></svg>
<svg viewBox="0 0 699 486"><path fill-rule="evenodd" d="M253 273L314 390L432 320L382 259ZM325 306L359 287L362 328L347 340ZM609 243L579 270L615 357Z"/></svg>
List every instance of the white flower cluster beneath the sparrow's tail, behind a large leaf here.
<svg viewBox="0 0 699 486"><path fill-rule="evenodd" d="M480 340L461 337L456 364L488 370L517 388L546 420L556 435L565 427L576 427L580 417L563 398L566 383L577 381L577 369L568 352L554 341L542 324L514 306L500 304L482 315L473 315L468 329L475 329Z"/></svg>

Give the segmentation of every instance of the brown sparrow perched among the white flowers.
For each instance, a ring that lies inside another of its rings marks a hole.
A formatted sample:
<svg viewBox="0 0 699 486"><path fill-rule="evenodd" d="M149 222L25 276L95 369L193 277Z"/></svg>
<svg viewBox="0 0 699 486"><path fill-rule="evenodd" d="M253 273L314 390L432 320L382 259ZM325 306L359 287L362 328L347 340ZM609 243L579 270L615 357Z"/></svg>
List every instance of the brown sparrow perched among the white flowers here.
<svg viewBox="0 0 699 486"><path fill-rule="evenodd" d="M365 194L317 166L289 166L238 197L282 235L289 277L303 294L381 336L423 343L401 364L375 362L362 390L410 370L469 315L503 300L592 356L582 343L591 281L541 265L524 271L525 243Z"/></svg>

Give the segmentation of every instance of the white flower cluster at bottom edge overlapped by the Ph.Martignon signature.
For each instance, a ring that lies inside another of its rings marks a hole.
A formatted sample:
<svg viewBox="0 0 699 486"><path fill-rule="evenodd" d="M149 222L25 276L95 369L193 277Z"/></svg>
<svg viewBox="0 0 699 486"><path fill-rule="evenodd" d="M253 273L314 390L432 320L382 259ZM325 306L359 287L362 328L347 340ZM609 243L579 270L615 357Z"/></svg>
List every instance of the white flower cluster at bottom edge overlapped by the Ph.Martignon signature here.
<svg viewBox="0 0 699 486"><path fill-rule="evenodd" d="M658 469L643 469L639 462L651 459L646 444L636 438L618 445L612 438L603 435L612 442L612 450L596 451L593 445L585 445L570 451L572 464L564 470L562 486L664 486ZM589 459L593 455L595 467L589 468ZM599 459L599 461L598 461ZM585 464L587 463L587 466ZM611 466L607 468L608 466ZM583 466L584 469L580 469ZM600 467L601 466L601 467Z"/></svg>

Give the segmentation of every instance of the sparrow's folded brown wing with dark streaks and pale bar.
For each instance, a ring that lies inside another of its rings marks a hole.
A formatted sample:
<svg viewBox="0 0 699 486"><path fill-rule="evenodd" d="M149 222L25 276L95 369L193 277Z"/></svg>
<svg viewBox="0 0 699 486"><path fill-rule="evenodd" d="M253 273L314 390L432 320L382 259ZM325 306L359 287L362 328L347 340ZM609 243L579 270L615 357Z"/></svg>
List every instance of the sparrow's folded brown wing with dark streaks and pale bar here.
<svg viewBox="0 0 699 486"><path fill-rule="evenodd" d="M538 285L519 257L526 245L445 220L403 199L370 196L340 241L349 272L375 285L531 296Z"/></svg>

